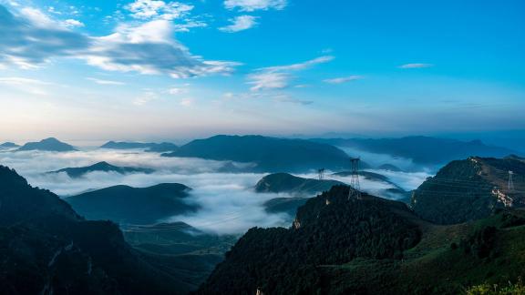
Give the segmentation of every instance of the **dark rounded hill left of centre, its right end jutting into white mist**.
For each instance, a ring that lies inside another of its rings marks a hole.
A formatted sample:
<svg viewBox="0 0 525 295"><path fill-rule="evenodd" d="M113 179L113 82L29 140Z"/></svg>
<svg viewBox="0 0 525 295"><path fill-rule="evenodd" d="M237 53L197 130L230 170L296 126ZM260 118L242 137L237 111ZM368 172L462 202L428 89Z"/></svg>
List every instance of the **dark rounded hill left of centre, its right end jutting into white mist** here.
<svg viewBox="0 0 525 295"><path fill-rule="evenodd" d="M194 211L186 202L190 188L163 183L149 188L115 186L65 198L80 215L91 220L153 224L159 219Z"/></svg>

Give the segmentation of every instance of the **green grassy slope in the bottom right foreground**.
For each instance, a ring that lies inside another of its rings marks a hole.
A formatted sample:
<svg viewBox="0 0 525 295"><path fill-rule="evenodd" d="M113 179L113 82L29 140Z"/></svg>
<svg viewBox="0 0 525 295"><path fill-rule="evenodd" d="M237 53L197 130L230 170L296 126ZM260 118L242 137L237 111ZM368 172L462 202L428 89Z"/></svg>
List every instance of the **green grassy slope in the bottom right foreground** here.
<svg viewBox="0 0 525 295"><path fill-rule="evenodd" d="M523 211L513 215L525 217ZM458 294L483 282L506 284L525 276L525 226L505 227L502 214L489 219L453 226L421 224L421 242L405 252L405 259L355 259L337 266L324 266L329 293ZM499 230L487 258L465 253L460 244L477 230L493 226Z"/></svg>

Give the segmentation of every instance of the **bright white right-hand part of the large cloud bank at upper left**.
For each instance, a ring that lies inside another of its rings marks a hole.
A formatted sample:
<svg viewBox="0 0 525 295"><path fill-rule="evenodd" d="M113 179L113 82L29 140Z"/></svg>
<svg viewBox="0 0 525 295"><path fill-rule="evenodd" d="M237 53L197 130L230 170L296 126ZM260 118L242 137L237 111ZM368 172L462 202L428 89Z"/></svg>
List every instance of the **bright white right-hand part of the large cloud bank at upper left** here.
<svg viewBox="0 0 525 295"><path fill-rule="evenodd" d="M144 24L119 25L115 33L94 39L85 56L88 64L106 70L166 74L173 78L229 75L238 63L193 56L172 36L174 25L158 19Z"/></svg>

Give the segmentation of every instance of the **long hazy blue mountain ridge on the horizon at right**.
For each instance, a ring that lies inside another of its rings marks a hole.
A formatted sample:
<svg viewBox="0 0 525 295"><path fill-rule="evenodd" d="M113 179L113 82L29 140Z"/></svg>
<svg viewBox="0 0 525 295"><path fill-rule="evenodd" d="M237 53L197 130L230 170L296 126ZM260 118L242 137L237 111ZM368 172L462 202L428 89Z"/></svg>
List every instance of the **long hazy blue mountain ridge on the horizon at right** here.
<svg viewBox="0 0 525 295"><path fill-rule="evenodd" d="M500 158L516 153L508 148L492 147L479 140L460 141L437 137L401 138L333 138L314 139L335 147L353 148L376 154L387 154L400 158L411 158L421 165L445 164L458 158L479 157Z"/></svg>

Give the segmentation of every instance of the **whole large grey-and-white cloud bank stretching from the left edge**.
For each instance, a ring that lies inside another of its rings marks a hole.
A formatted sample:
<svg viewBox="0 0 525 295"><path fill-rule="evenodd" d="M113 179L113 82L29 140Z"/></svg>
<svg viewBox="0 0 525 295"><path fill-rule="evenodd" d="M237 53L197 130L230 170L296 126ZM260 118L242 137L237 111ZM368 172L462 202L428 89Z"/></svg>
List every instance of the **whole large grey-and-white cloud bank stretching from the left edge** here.
<svg viewBox="0 0 525 295"><path fill-rule="evenodd" d="M229 75L240 65L190 54L174 38L190 24L173 24L170 17L123 23L111 35L94 37L73 32L35 8L13 14L0 5L0 66L36 68L53 58L70 57L110 71L186 78Z"/></svg>

